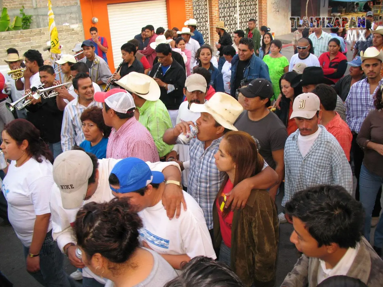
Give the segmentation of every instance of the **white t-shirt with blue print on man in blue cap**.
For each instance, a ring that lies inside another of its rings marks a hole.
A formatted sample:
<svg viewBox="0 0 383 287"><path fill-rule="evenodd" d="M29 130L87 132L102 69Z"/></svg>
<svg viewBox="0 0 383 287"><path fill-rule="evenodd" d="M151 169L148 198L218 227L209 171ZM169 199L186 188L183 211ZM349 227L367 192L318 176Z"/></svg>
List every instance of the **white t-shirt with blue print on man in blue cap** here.
<svg viewBox="0 0 383 287"><path fill-rule="evenodd" d="M140 238L160 254L187 254L190 258L201 255L216 259L200 205L186 191L183 191L183 197L188 209L182 210L178 219L169 220L162 201L140 211L138 214L144 225Z"/></svg>

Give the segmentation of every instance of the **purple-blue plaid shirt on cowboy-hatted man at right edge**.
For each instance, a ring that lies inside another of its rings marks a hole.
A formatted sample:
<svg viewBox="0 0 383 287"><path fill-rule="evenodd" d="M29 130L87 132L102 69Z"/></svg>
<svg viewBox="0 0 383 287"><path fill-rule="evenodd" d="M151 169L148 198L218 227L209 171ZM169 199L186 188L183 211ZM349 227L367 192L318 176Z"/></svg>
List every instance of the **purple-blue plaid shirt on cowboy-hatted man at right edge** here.
<svg viewBox="0 0 383 287"><path fill-rule="evenodd" d="M346 123L349 125L350 130L359 133L360 127L364 119L367 117L367 114L374 109L374 99L378 88L382 84L383 79L379 81L378 86L375 88L375 91L371 95L370 93L370 84L367 81L367 78L356 82L351 86L349 95L346 98Z"/></svg>

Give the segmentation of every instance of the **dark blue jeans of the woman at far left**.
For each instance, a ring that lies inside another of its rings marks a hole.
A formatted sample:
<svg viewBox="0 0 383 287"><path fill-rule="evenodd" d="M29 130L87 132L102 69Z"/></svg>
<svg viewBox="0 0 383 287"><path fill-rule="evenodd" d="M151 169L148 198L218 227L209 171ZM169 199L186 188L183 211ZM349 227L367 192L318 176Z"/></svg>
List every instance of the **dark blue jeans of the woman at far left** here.
<svg viewBox="0 0 383 287"><path fill-rule="evenodd" d="M29 247L23 246L25 258L28 256ZM52 231L45 237L40 250L40 270L28 272L41 285L45 287L76 287L79 283L69 278L64 271L64 255L61 253L57 242L52 238Z"/></svg>

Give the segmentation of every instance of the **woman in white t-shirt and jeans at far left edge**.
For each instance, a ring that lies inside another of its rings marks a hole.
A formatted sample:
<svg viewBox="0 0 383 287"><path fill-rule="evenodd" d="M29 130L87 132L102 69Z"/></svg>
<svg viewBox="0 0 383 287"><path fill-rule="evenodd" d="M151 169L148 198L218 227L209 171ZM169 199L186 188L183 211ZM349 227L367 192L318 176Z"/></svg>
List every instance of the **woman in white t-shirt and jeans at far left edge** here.
<svg viewBox="0 0 383 287"><path fill-rule="evenodd" d="M23 243L26 270L43 286L69 287L63 254L52 238L52 153L39 130L25 119L7 124L2 138L5 158L11 160L4 169L2 191L8 202L8 219Z"/></svg>

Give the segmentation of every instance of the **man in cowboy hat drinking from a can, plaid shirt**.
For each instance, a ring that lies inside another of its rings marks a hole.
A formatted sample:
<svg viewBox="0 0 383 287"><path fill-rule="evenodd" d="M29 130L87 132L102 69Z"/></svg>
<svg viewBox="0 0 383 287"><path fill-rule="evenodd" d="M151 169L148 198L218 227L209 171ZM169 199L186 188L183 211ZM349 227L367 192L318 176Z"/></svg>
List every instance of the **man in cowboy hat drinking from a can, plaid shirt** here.
<svg viewBox="0 0 383 287"><path fill-rule="evenodd" d="M242 113L243 108L232 96L217 92L204 104L190 104L190 111L201 113L201 116L196 120L196 127L198 128L196 138L192 139L189 144L188 193L200 204L205 214L210 235L213 238L213 204L224 179L224 173L218 171L215 164L214 155L218 152L223 135L230 130L237 130L234 127L234 122ZM189 125L195 126L191 121L180 122L173 129L167 130L164 134L164 142L174 144L178 135L190 132ZM264 169L266 166L267 164ZM249 181L258 188L267 189L275 184L275 175L275 171L267 167L267 170L263 170L250 178ZM278 176L276 175L277 179ZM250 190L247 197L245 196L245 204L250 196ZM233 191L231 197L234 202L237 202L238 194L244 194L243 189L237 191L238 193L233 193ZM230 202L228 201L228 204Z"/></svg>

